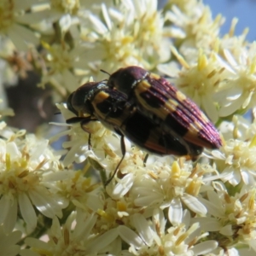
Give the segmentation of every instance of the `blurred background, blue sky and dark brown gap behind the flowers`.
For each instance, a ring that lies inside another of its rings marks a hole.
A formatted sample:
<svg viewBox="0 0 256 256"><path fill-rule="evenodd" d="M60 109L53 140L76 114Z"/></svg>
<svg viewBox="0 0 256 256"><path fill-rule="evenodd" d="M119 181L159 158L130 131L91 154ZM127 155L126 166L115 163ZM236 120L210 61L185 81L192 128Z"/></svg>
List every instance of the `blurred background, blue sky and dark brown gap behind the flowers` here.
<svg viewBox="0 0 256 256"><path fill-rule="evenodd" d="M212 17L219 13L225 17L225 23L221 28L221 35L229 32L231 20L234 17L239 19L236 25L235 34L239 35L246 27L250 28L247 34L247 41L256 38L255 11L256 1L253 0L205 0L203 1L212 9ZM160 1L160 5L163 4ZM29 72L25 79L20 79L18 85L9 86L6 89L9 107L15 111L15 117L9 117L9 125L26 129L29 132L36 132L38 125L48 124L49 121L61 121L61 115L55 114L58 110L50 98L50 89L42 90L35 86L39 78L36 73ZM54 127L52 129L55 129ZM55 131L50 132L55 133Z"/></svg>

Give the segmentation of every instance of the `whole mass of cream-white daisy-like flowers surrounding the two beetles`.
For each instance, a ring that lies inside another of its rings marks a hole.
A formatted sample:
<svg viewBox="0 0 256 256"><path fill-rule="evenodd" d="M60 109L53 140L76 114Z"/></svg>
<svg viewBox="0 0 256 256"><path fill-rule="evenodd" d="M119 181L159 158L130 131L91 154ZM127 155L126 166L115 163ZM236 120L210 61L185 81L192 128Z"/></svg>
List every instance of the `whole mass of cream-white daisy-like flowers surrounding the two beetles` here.
<svg viewBox="0 0 256 256"><path fill-rule="evenodd" d="M47 140L10 127L1 108L1 255L256 253L256 44L235 36L236 19L221 37L224 18L199 0L2 2L1 86L35 70L64 101L91 77L143 67L207 113L222 147L197 161L148 154L70 102L56 104L65 130Z"/></svg>

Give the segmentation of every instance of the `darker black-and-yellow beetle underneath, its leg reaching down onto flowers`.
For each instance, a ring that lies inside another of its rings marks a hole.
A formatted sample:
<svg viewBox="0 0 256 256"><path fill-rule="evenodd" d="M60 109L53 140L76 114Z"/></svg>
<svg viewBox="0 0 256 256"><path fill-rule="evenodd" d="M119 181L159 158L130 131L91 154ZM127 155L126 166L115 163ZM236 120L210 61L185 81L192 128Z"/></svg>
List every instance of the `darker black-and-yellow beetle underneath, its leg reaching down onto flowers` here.
<svg viewBox="0 0 256 256"><path fill-rule="evenodd" d="M195 160L203 150L201 146L189 142L184 146L177 137L163 132L160 125L127 102L124 94L110 89L106 80L80 86L68 97L67 108L77 115L67 119L68 124L79 122L83 128L88 122L99 120L121 137L122 158L105 185L112 180L125 157L124 137L153 154L189 155Z"/></svg>

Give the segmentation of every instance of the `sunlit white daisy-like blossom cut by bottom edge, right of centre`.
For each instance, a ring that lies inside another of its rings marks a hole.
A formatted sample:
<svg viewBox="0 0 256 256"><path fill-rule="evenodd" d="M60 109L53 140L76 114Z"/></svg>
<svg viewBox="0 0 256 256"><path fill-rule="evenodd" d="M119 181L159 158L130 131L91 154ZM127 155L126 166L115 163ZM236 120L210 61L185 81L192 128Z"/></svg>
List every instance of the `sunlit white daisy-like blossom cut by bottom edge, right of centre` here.
<svg viewBox="0 0 256 256"><path fill-rule="evenodd" d="M131 255L206 255L218 247L217 241L201 241L208 234L199 232L199 224L190 224L186 210L181 223L169 228L160 209L154 209L150 221L137 213L131 223L135 230L119 227L120 236L130 245Z"/></svg>

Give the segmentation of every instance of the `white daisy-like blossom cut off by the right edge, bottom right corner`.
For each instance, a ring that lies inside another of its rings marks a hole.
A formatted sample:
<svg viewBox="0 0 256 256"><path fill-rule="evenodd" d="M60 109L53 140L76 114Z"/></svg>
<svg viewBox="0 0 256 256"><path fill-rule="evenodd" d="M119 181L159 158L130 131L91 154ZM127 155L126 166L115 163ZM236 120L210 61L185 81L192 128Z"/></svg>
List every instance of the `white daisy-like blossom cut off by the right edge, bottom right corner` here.
<svg viewBox="0 0 256 256"><path fill-rule="evenodd" d="M199 200L207 207L207 218L192 218L210 236L219 236L220 247L246 244L256 252L255 187L242 185L239 192L227 189L224 183L213 182L214 191Z"/></svg>

